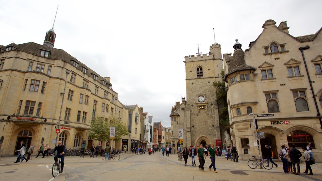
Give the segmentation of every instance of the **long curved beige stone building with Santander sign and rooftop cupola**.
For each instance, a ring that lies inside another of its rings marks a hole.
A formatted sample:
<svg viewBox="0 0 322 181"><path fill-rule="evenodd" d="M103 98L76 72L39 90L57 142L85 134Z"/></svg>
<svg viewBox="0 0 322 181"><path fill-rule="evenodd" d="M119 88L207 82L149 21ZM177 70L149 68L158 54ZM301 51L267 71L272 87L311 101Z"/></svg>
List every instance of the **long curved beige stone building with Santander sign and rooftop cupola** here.
<svg viewBox="0 0 322 181"><path fill-rule="evenodd" d="M26 148L53 148L56 137L66 148L80 148L82 140L90 147L99 143L88 138L93 115L123 116L110 78L54 48L55 40L51 29L43 44L0 46L0 155L13 155L22 140Z"/></svg>

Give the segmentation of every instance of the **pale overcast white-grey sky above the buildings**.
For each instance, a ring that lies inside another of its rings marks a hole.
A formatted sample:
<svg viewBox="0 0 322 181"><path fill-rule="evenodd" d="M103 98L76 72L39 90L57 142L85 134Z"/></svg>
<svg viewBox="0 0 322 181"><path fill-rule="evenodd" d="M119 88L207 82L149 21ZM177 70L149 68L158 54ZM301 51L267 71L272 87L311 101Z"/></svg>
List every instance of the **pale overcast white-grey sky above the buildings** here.
<svg viewBox="0 0 322 181"><path fill-rule="evenodd" d="M278 2L0 0L0 44L43 44L54 24L54 48L63 49L102 77L124 105L138 105L170 127L171 108L186 97L185 56L214 43L232 53L248 49L272 19L287 21L292 36L322 26L322 1ZM214 29L213 29L214 28ZM214 37L215 33L215 37ZM188 100L188 99L187 99Z"/></svg>

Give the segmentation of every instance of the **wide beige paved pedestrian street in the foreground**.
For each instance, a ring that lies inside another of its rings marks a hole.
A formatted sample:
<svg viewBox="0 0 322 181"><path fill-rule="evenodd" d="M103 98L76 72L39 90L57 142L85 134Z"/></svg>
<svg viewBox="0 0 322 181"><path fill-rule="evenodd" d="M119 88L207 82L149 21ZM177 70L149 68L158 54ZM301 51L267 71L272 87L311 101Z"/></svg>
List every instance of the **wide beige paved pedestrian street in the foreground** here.
<svg viewBox="0 0 322 181"><path fill-rule="evenodd" d="M301 164L301 175L284 174L282 162L276 162L279 167L273 167L271 170L251 169L247 166L247 161L239 160L239 163L233 163L226 160L225 157L216 157L216 168L218 173L209 171L210 158L206 158L204 172L198 169L199 162L191 166L191 158L188 158L187 166L184 161L179 162L177 155L172 154L169 157L162 156L156 152L149 156L134 155L128 153L120 155L118 161L105 161L101 157L85 158L65 157L64 172L52 177L51 168L53 157L35 158L33 157L27 163L13 163L16 157L0 158L1 180L28 180L28 181L81 181L81 180L122 180L122 181L156 181L156 180L215 180L215 181L277 181L277 180L322 180L322 163L312 165L314 175L302 174L305 170L305 164ZM244 175L240 175L244 174Z"/></svg>

